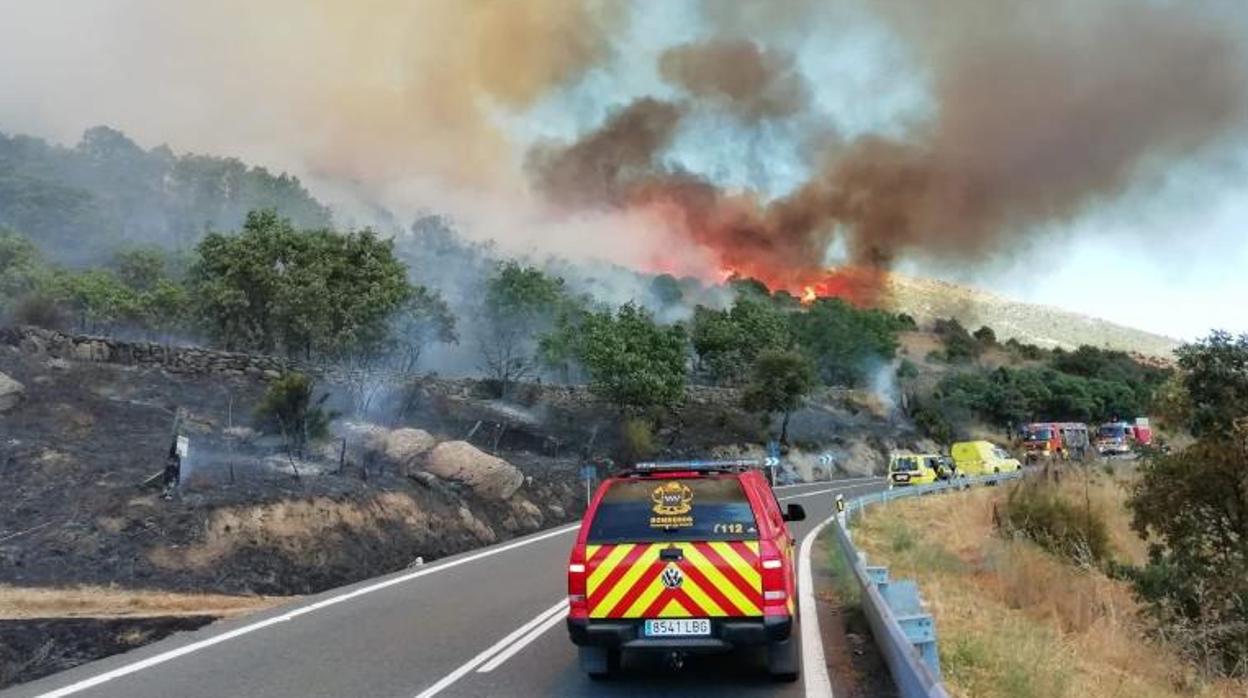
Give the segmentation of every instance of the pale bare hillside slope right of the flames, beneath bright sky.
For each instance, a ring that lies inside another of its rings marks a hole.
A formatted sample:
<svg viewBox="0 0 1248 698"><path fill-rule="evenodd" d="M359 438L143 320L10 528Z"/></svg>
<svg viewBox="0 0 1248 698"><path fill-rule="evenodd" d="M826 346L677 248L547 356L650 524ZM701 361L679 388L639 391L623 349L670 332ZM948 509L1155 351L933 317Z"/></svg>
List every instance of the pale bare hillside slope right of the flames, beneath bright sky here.
<svg viewBox="0 0 1248 698"><path fill-rule="evenodd" d="M946 281L895 273L890 278L890 291L895 308L912 315L921 323L955 317L972 330L987 325L1001 340L1016 338L1046 348L1072 350L1092 345L1146 356L1168 356L1179 343L1171 337L1107 320L1011 301Z"/></svg>

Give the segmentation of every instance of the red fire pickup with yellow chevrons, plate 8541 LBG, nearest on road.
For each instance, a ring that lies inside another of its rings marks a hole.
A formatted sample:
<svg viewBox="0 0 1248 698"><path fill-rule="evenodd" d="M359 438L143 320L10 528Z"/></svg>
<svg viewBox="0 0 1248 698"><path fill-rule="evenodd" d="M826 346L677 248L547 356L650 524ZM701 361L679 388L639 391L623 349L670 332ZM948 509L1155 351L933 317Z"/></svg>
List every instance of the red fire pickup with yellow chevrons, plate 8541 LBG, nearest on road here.
<svg viewBox="0 0 1248 698"><path fill-rule="evenodd" d="M640 463L604 481L568 564L568 632L600 679L624 652L766 648L768 673L796 681L797 572L786 522L753 461Z"/></svg>

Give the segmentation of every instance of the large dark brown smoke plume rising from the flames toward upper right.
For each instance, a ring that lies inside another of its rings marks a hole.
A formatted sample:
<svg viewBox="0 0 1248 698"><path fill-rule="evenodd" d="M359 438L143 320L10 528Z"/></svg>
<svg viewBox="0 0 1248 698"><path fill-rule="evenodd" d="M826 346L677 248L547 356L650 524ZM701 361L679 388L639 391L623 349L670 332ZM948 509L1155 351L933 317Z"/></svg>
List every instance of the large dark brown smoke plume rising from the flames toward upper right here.
<svg viewBox="0 0 1248 698"><path fill-rule="evenodd" d="M930 74L935 114L906 137L864 136L824 154L782 199L760 202L664 167L689 110L649 99L579 142L547 146L530 175L564 206L656 211L723 268L801 292L835 286L824 256L836 236L850 266L867 270L852 272L856 287L902 256L975 263L1243 135L1244 56L1214 16L1126 0L1094 10L876 5ZM791 67L769 55L749 41L709 41L668 51L659 67L703 106L805 110L805 96L769 96Z"/></svg>

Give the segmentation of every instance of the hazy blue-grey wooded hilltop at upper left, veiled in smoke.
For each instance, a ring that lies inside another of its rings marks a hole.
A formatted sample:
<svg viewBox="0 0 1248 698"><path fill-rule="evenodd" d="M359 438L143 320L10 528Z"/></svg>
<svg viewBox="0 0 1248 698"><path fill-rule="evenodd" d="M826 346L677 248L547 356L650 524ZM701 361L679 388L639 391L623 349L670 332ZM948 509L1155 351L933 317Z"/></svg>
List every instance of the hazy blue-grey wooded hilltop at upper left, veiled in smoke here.
<svg viewBox="0 0 1248 698"><path fill-rule="evenodd" d="M0 226L60 262L90 262L117 245L185 250L257 209L300 227L331 221L296 177L236 159L144 150L106 126L89 129L74 147L0 134Z"/></svg>

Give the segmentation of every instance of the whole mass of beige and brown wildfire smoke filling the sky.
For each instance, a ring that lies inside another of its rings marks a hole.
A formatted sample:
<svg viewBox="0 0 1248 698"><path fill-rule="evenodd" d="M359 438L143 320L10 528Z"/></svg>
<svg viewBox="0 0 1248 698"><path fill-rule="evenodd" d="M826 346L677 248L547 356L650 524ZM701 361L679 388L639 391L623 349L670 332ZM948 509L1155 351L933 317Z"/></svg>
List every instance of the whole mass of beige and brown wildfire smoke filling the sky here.
<svg viewBox="0 0 1248 698"><path fill-rule="evenodd" d="M676 6L680 19L664 19ZM826 278L830 248L867 270L1035 248L1055 225L1148 197L1162 174L1246 135L1233 4L689 0L646 16L609 0L0 9L15 19L0 30L0 116L17 125L111 122L149 142L260 155L387 202L409 197L504 241L638 266L680 253L708 276L792 291ZM839 125L852 114L816 97L850 77L810 59L864 32L885 35L896 56L880 92L916 84L927 106L849 132ZM565 116L552 105L577 111L573 131L530 139L512 127ZM765 166L764 136L776 130L795 134L802 164L779 194L730 186L676 152L690 135L725 150L754 139Z"/></svg>

